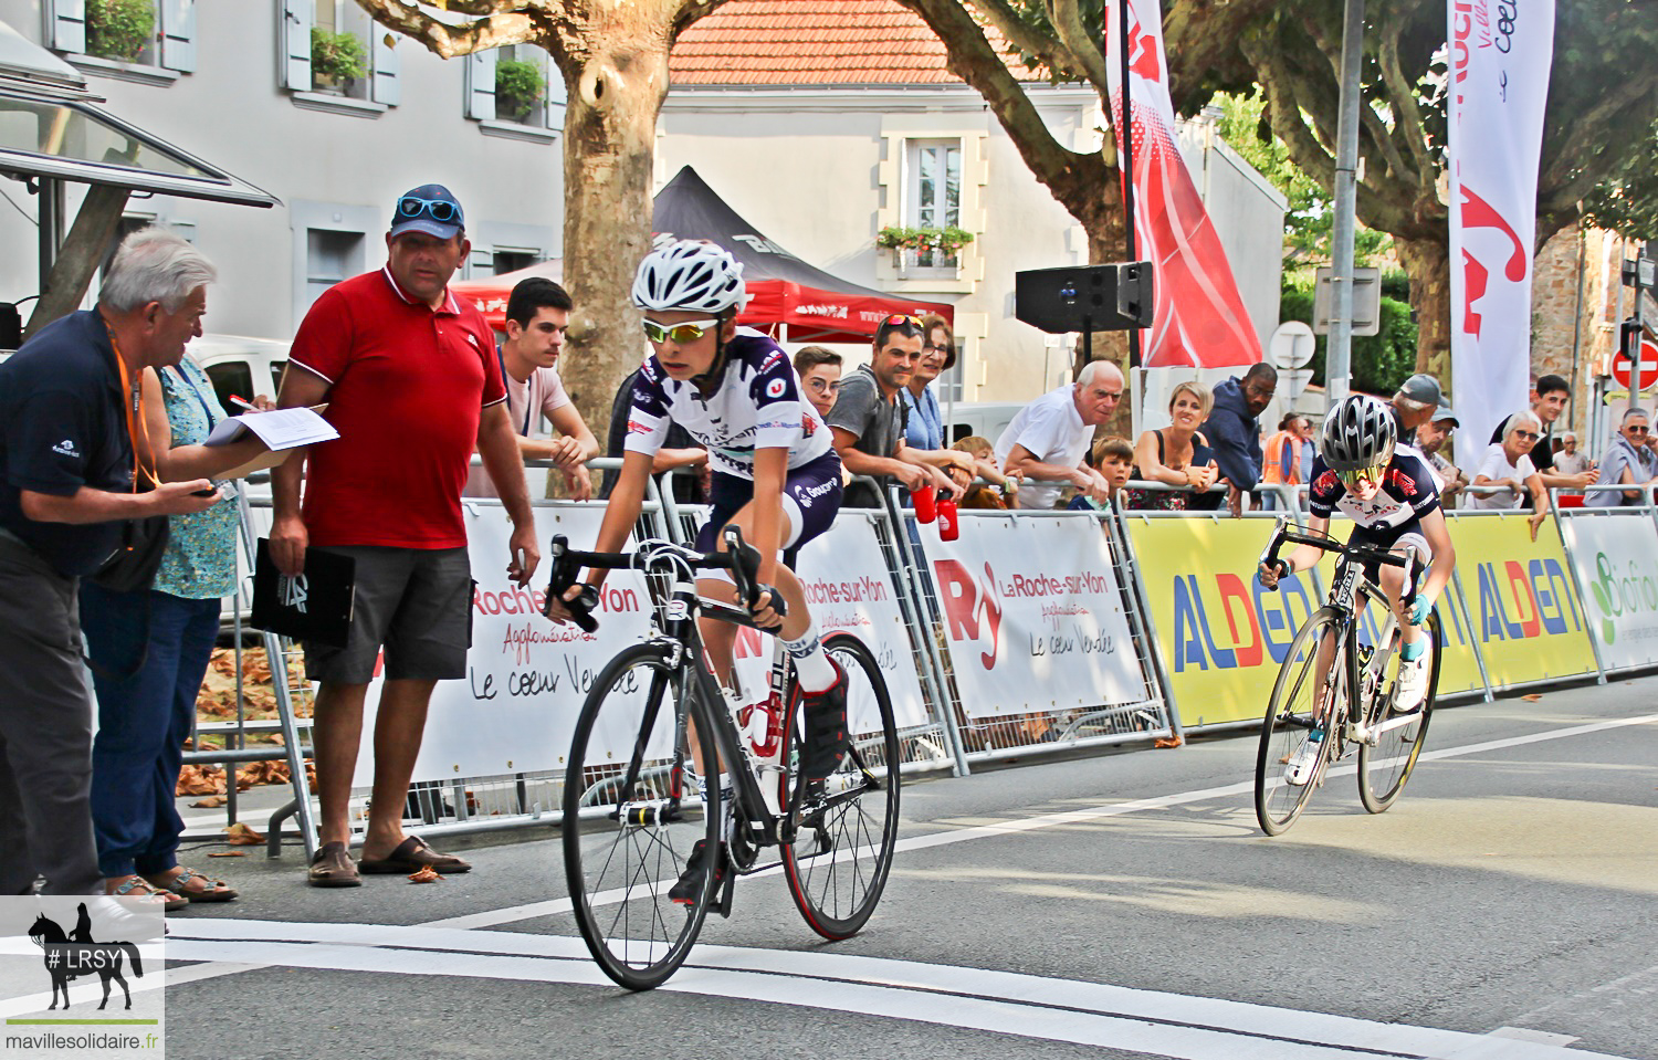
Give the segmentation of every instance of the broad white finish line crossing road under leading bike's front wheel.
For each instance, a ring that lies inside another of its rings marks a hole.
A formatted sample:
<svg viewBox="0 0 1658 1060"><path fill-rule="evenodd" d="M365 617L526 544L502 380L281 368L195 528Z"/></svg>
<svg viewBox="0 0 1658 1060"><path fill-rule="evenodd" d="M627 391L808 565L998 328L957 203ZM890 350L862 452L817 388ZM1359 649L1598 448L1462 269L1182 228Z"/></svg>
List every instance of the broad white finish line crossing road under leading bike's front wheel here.
<svg viewBox="0 0 1658 1060"><path fill-rule="evenodd" d="M610 987L569 936L376 924L199 921L176 929L184 960ZM827 952L698 947L662 987L854 1012L1182 1060L1615 1060L1555 1042L1471 1035L1108 984ZM1500 1045L1500 1052L1491 1052Z"/></svg>

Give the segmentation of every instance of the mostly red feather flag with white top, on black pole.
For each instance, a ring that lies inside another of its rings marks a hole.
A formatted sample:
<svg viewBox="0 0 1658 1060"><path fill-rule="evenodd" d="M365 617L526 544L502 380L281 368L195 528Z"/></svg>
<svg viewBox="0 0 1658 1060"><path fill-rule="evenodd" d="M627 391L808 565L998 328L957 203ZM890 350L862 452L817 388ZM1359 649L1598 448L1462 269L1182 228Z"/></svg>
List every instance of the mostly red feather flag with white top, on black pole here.
<svg viewBox="0 0 1658 1060"><path fill-rule="evenodd" d="M1169 63L1162 51L1162 7L1134 0L1129 10L1129 80L1134 129L1136 250L1156 269L1157 309L1141 333L1147 368L1220 368L1262 360L1232 265L1204 199L1174 143ZM1117 7L1106 3L1106 65L1111 129L1122 151L1122 60Z"/></svg>

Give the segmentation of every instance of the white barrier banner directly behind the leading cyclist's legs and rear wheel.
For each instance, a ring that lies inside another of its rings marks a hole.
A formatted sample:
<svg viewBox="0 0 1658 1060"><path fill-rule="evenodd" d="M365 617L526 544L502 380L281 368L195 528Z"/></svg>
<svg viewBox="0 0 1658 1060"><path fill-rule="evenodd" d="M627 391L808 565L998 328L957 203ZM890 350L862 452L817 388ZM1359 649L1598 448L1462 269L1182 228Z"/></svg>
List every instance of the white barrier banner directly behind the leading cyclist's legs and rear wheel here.
<svg viewBox="0 0 1658 1060"><path fill-rule="evenodd" d="M925 725L927 700L915 672L910 630L904 624L904 610L870 521L854 511L841 513L824 536L801 549L797 574L817 632L847 630L875 654L880 673L887 678L897 727L904 730ZM766 687L773 644L768 634L751 629L738 632L736 673L743 688ZM756 692L749 698L761 697ZM880 728L874 700L854 695L847 703L847 725L852 733Z"/></svg>

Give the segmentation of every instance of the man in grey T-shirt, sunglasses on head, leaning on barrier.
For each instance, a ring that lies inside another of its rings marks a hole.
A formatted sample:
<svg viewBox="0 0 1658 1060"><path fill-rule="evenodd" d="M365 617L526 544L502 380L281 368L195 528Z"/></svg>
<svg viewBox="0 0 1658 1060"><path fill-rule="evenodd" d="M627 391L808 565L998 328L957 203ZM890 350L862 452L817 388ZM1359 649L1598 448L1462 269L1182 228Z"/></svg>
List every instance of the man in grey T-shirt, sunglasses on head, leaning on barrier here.
<svg viewBox="0 0 1658 1060"><path fill-rule="evenodd" d="M897 479L905 489L935 486L958 496L950 478L910 450L904 441L904 405L899 391L915 373L922 353L922 322L894 315L875 328L874 352L867 365L841 380L841 395L826 421L834 433L834 448L852 474L870 476L885 486ZM955 463L955 453L948 463ZM880 498L865 483L847 486L842 508L877 508Z"/></svg>

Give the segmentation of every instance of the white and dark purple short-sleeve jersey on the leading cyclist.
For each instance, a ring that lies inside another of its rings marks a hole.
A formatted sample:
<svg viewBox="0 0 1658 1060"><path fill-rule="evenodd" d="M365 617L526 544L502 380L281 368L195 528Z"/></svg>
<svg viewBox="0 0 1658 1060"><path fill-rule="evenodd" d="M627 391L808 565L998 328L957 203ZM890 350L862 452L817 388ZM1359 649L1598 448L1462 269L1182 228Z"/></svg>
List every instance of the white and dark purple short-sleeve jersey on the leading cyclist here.
<svg viewBox="0 0 1658 1060"><path fill-rule="evenodd" d="M834 448L817 410L801 400L799 377L778 343L738 328L726 355L725 378L708 400L695 383L668 378L655 355L647 357L633 382L623 450L655 456L668 425L678 423L708 448L715 471L753 479L754 450L788 450L793 471Z"/></svg>

